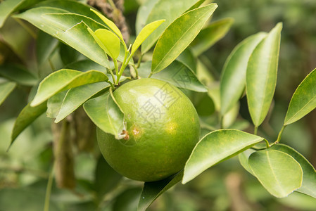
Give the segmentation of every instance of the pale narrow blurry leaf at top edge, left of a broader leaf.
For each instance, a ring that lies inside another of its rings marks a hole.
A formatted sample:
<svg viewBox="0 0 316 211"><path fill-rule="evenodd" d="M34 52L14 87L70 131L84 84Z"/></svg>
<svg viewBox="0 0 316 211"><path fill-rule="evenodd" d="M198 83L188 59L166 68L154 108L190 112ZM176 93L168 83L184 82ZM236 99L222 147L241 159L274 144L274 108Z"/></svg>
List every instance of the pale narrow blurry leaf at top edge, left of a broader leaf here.
<svg viewBox="0 0 316 211"><path fill-rule="evenodd" d="M135 23L136 34L139 34L139 32L141 32L141 29L145 27L148 15L151 13L153 7L157 2L158 0L145 1L144 4L139 6Z"/></svg>

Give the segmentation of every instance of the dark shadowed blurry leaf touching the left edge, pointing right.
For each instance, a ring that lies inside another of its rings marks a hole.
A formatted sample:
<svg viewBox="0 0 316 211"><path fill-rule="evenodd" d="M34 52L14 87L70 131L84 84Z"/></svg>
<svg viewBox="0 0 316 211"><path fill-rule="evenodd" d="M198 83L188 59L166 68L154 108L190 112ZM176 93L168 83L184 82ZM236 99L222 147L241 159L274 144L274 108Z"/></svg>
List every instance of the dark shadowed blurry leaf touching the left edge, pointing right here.
<svg viewBox="0 0 316 211"><path fill-rule="evenodd" d="M25 70L19 65L2 65L0 66L0 75L7 79L17 82L21 85L34 86L37 84L37 77Z"/></svg>

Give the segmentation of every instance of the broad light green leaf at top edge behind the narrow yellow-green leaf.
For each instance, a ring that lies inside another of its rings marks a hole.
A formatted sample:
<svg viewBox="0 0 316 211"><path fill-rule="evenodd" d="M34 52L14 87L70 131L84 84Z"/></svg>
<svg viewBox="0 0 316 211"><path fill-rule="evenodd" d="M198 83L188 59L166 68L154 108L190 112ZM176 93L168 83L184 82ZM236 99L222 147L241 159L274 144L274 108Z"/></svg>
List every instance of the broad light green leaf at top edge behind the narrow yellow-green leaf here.
<svg viewBox="0 0 316 211"><path fill-rule="evenodd" d="M156 43L160 35L165 29L182 13L191 8L192 5L196 4L197 0L182 0L182 1L170 1L170 0L159 0L151 9L146 24L152 23L153 21L165 19L165 23L160 25L141 45L141 53L146 53L153 44ZM145 15L146 16L146 15Z"/></svg>

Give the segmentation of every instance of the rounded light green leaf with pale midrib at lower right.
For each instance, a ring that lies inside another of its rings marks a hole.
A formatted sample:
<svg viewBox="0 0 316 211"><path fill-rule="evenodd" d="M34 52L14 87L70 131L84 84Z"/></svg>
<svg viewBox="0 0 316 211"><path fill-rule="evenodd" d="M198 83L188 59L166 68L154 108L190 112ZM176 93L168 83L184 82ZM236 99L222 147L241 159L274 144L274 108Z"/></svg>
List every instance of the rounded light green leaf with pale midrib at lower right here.
<svg viewBox="0 0 316 211"><path fill-rule="evenodd" d="M249 166L260 183L277 198L300 188L303 171L291 155L281 151L257 151L249 156Z"/></svg>

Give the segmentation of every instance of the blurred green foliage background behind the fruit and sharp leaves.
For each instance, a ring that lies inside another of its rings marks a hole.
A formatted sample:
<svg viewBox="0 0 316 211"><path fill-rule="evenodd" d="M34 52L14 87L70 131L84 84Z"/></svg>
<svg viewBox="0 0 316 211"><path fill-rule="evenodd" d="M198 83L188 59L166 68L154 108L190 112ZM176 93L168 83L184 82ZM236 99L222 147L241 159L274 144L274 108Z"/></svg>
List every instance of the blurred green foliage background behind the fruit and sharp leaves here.
<svg viewBox="0 0 316 211"><path fill-rule="evenodd" d="M137 9L142 2L125 0L125 17L131 36L135 34ZM32 5L32 1L29 3ZM223 39L199 56L200 65L207 71L204 74L212 77L204 82L212 84L214 90L217 88L213 79L220 78L225 60L236 44L256 32L269 31L278 22L284 25L274 106L259 131L259 135L276 139L293 91L316 67L316 2L222 0L217 4L212 21L234 18L234 23ZM0 65L22 65L33 75L44 78L82 58L84 56L77 51L47 37L26 22L8 18L0 29ZM203 77L201 72L199 75ZM36 89L30 84L18 84L0 106L0 210L21 210L22 207L23 210L42 210L44 207L47 180L53 168L51 120L44 115L39 117L6 152L14 120ZM186 94L194 101L201 121L215 121L215 117L210 116L216 107L214 99L207 94ZM240 101L237 120L241 117L251 120L245 98ZM242 123L234 126L246 126L246 130L252 131L248 124ZM282 138L282 143L296 148L314 166L315 125L315 115L311 114L287 127ZM212 128L203 127L201 135L210 130ZM74 128L72 133L75 133ZM89 151L73 148L77 185L74 190L67 190L53 184L50 210L137 210L142 183L118 176L102 158L99 159L96 144L92 148ZM100 201L102 203L97 207ZM148 210L288 210L290 207L292 210L316 210L316 203L315 199L300 193L283 199L270 196L233 158L212 167L186 185L177 184Z"/></svg>

